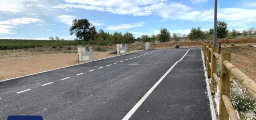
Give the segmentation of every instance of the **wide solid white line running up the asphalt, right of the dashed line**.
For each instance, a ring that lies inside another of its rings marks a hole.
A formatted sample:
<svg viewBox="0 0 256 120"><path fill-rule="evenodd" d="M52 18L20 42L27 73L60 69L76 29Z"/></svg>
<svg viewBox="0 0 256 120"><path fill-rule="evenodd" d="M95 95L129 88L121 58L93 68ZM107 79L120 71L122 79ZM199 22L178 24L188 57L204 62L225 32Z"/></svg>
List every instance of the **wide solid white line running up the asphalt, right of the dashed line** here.
<svg viewBox="0 0 256 120"><path fill-rule="evenodd" d="M190 50L190 49L189 49ZM189 50L183 55L183 57L175 62L170 69L153 85L152 88L148 90L148 92L138 101L135 106L124 116L122 120L129 120L129 118L135 113L135 111L141 106L141 104L147 99L147 97L153 92L153 90L159 85L160 82L170 73L170 71L175 67L177 63L182 61L182 59L188 54Z"/></svg>

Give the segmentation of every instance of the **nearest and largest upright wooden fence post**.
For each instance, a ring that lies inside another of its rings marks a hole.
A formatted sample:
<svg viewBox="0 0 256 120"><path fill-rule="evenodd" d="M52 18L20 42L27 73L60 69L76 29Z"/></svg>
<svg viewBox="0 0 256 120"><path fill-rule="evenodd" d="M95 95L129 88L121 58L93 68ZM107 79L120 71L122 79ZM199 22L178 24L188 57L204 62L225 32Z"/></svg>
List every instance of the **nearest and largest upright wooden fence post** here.
<svg viewBox="0 0 256 120"><path fill-rule="evenodd" d="M220 81L220 105L219 105L219 120L229 120L229 114L222 100L222 95L227 95L230 97L230 71L226 69L223 61L227 60L230 62L231 53L221 52L221 81Z"/></svg>

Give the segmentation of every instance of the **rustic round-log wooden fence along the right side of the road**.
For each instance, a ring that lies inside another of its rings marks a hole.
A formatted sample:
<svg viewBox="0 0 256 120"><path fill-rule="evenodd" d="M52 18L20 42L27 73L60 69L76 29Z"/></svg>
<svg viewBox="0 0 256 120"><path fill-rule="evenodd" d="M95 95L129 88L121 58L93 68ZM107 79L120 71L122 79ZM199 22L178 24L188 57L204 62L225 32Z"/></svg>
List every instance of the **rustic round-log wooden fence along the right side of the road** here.
<svg viewBox="0 0 256 120"><path fill-rule="evenodd" d="M213 47L212 44L202 41L202 52L208 78L210 78L210 90L215 95L217 86L220 90L219 99L219 120L239 120L230 97L230 75L238 79L250 95L256 99L256 82L246 76L241 70L231 63L230 52L220 52L220 48ZM219 52L218 52L219 51ZM220 63L220 79L217 76L217 63Z"/></svg>

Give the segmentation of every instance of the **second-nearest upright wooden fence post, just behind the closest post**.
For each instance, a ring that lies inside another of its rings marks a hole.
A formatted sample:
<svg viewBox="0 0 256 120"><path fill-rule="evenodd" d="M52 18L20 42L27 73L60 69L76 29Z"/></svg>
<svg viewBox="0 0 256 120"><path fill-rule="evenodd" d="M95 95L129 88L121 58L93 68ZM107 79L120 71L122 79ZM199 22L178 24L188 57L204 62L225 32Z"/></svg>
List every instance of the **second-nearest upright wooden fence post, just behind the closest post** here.
<svg viewBox="0 0 256 120"><path fill-rule="evenodd" d="M211 53L211 93L212 95L215 95L215 91L217 90L216 81L214 80L214 76L212 73L217 74L217 57L213 55L213 52L217 52L217 47L212 47L212 53Z"/></svg>

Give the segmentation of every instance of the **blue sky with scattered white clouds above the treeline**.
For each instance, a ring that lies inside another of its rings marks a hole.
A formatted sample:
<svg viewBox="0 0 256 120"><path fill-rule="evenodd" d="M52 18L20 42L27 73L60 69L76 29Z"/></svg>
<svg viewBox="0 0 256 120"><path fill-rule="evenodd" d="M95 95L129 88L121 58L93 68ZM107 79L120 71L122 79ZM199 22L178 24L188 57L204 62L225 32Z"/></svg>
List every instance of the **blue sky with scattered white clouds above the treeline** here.
<svg viewBox="0 0 256 120"><path fill-rule="evenodd" d="M0 0L0 38L48 39L69 34L73 19L88 19L97 31L156 35L165 27L188 34L213 28L214 0ZM256 0L218 0L218 20L228 29L256 26Z"/></svg>

